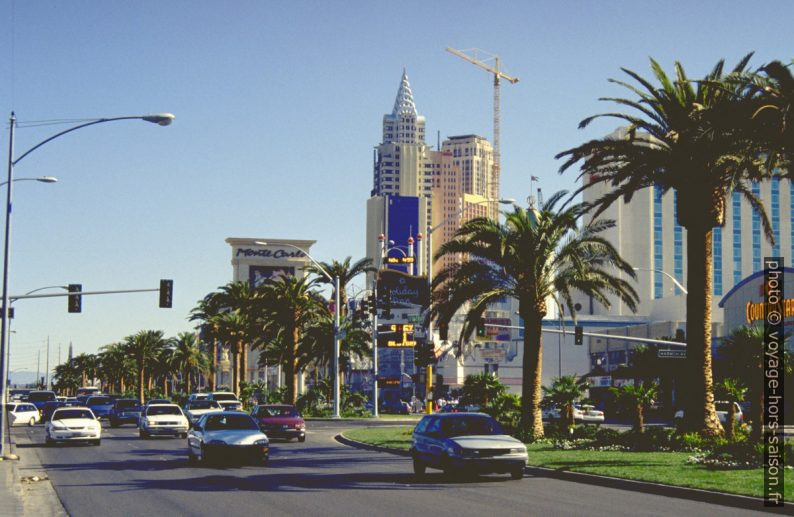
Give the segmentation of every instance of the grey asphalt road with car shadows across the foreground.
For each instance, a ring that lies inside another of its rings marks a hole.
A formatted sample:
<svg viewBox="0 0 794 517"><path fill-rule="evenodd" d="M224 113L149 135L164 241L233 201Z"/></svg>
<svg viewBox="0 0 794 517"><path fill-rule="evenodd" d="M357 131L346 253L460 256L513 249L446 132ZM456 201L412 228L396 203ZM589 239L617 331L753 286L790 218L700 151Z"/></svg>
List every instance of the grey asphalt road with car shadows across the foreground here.
<svg viewBox="0 0 794 517"><path fill-rule="evenodd" d="M417 482L408 458L350 448L334 436L363 425L309 422L305 443L274 441L268 466L192 466L186 440L142 440L106 428L102 445L45 447L42 426L14 428L76 517L109 515L748 515L753 512L527 474Z"/></svg>

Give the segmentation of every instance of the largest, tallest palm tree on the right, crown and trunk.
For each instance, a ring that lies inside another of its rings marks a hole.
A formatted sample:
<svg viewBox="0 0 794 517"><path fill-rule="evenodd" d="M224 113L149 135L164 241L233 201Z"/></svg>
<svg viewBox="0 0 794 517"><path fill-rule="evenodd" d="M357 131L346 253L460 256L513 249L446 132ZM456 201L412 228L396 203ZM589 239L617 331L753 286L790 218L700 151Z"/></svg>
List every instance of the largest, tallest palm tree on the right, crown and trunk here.
<svg viewBox="0 0 794 517"><path fill-rule="evenodd" d="M631 70L623 71L639 86L625 86L638 100L608 98L633 110L588 117L586 127L599 117L628 123L618 138L591 140L557 155L566 158L564 172L582 162L578 192L606 183L612 190L595 201L597 216L613 202L630 201L634 193L656 185L678 193L678 223L687 229L687 363L692 385L687 397L685 425L716 436L722 428L714 410L711 372L712 230L725 222L726 198L738 192L761 216L767 237L772 230L761 201L750 183L770 177L761 158L764 145L752 135L756 109L753 94L735 77L745 73L747 55L729 75L720 61L701 81L690 81L676 62L674 80L651 59L659 86Z"/></svg>

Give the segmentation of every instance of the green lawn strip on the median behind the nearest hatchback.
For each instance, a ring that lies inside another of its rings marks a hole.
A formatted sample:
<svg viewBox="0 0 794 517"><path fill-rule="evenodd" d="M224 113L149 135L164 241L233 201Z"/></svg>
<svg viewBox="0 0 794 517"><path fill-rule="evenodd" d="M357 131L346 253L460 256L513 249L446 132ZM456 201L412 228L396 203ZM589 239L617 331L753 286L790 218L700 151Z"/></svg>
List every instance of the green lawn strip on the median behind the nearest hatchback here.
<svg viewBox="0 0 794 517"><path fill-rule="evenodd" d="M351 440L408 449L413 426L366 427L345 431ZM651 481L733 494L763 497L763 470L713 470L688 465L688 452L563 451L547 444L529 444L530 465L623 479ZM794 500L794 471L785 477L785 499Z"/></svg>

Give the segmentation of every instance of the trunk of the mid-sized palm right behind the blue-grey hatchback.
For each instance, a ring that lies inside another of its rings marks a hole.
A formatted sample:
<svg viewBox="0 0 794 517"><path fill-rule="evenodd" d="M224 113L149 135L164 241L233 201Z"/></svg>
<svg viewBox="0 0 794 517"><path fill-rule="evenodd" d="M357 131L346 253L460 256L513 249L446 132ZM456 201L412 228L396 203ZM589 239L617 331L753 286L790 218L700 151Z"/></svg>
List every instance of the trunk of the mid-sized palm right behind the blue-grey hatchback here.
<svg viewBox="0 0 794 517"><path fill-rule="evenodd" d="M523 311L521 311L523 312ZM521 429L532 438L543 437L540 412L541 372L543 368L542 317L532 314L524 318L524 375L521 380Z"/></svg>

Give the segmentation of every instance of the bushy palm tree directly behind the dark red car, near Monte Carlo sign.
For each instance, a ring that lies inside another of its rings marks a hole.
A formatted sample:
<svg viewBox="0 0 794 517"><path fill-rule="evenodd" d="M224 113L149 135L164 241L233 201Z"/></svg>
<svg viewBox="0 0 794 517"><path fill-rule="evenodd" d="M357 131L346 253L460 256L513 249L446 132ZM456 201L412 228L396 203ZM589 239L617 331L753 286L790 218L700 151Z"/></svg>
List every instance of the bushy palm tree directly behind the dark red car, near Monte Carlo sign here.
<svg viewBox="0 0 794 517"><path fill-rule="evenodd" d="M308 278L279 277L259 286L259 318L262 338L256 346L263 357L284 366L287 402L297 400L299 346L307 329L328 314L322 297L312 289Z"/></svg>

